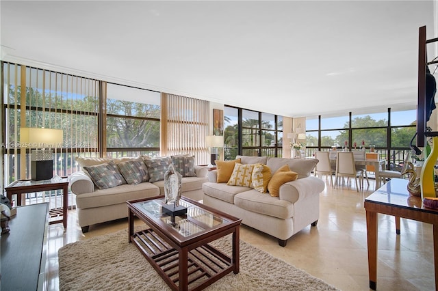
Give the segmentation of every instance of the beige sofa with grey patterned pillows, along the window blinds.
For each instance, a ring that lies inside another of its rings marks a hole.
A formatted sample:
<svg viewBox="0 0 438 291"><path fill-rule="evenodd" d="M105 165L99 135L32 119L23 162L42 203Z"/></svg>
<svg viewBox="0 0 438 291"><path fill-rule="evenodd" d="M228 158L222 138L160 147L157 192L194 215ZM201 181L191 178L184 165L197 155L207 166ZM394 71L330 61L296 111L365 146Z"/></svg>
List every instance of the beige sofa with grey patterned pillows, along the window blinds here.
<svg viewBox="0 0 438 291"><path fill-rule="evenodd" d="M77 158L79 165L86 169L110 161L119 165L132 160L133 158ZM203 199L202 184L207 182L208 168L196 165L193 168L193 176L182 178L181 195L201 200ZM151 170L150 167L148 169ZM128 200L164 195L164 180L120 184L99 189L90 178L90 174L83 169L70 176L70 189L76 195L77 217L82 232L85 233L88 232L90 225L127 217Z"/></svg>

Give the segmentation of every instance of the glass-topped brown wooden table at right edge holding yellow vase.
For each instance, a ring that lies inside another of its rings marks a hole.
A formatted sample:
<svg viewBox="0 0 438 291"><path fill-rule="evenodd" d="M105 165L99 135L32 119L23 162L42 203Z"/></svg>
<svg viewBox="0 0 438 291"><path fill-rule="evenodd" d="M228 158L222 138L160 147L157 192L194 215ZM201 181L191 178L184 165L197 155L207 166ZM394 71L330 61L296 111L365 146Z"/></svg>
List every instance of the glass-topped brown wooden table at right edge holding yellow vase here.
<svg viewBox="0 0 438 291"><path fill-rule="evenodd" d="M435 255L435 290L438 290L438 210L424 208L421 197L409 195L408 180L391 179L365 198L368 240L368 272L370 288L377 286L378 213L394 215L400 234L400 217L433 224L433 254Z"/></svg>

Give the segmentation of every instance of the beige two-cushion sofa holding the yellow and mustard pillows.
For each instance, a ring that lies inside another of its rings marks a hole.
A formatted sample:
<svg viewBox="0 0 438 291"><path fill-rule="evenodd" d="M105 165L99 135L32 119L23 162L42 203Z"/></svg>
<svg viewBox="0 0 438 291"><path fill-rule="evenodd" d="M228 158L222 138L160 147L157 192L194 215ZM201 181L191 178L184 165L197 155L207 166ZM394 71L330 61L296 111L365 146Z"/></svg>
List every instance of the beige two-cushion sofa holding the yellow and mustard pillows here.
<svg viewBox="0 0 438 291"><path fill-rule="evenodd" d="M298 174L298 178L279 187L279 197L260 193L248 186L218 183L218 171L207 174L203 184L203 203L242 219L242 223L279 239L285 247L287 239L307 225L315 226L319 219L320 193L324 182L310 176L318 160L268 158L266 156L236 156L242 164L262 163L272 175L284 165Z"/></svg>

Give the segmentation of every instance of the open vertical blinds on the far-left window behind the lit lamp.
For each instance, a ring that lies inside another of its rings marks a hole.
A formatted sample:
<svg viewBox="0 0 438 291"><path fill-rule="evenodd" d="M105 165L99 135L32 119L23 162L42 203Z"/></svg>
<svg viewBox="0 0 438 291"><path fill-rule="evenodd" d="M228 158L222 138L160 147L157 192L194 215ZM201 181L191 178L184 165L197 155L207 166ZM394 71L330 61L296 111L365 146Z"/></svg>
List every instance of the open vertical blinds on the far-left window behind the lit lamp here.
<svg viewBox="0 0 438 291"><path fill-rule="evenodd" d="M99 156L99 81L50 70L2 62L4 184L30 176L29 148L20 143L20 128L63 130L53 148L54 174L77 171L75 156Z"/></svg>

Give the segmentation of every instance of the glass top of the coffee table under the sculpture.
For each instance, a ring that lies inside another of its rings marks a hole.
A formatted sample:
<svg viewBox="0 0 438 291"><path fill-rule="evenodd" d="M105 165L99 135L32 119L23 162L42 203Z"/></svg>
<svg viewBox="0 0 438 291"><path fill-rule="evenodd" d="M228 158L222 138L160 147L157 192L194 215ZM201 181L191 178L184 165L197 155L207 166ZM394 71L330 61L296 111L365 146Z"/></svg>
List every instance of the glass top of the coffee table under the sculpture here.
<svg viewBox="0 0 438 291"><path fill-rule="evenodd" d="M211 230L217 225L230 222L224 217L208 212L190 202L181 199L179 205L187 208L187 214L175 216L175 222L169 214L163 212L164 198L134 203L139 210L176 230L181 236L192 236Z"/></svg>

